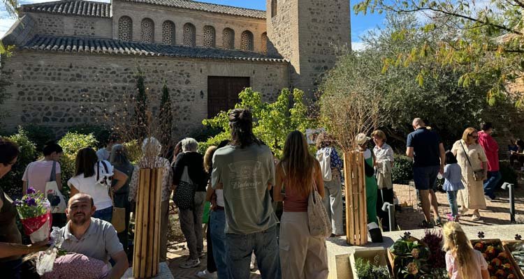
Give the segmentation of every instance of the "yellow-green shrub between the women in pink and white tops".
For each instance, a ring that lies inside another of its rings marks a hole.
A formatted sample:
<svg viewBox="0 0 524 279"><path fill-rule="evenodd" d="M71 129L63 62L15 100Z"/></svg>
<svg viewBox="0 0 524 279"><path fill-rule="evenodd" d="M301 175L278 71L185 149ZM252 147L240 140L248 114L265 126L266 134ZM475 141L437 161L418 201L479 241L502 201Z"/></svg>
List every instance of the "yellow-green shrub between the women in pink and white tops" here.
<svg viewBox="0 0 524 279"><path fill-rule="evenodd" d="M75 172L76 152L83 147L96 146L96 138L93 134L83 135L75 132L68 132L59 140L58 144L64 149L64 156L60 159L62 194L69 196L69 186L67 181L71 179Z"/></svg>

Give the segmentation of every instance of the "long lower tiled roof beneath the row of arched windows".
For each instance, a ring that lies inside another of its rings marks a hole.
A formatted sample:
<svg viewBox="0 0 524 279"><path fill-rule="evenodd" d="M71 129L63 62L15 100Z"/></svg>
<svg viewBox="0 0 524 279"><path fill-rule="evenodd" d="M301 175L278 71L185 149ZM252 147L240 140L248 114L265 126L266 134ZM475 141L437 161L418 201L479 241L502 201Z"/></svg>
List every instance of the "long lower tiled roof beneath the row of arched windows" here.
<svg viewBox="0 0 524 279"><path fill-rule="evenodd" d="M124 54L144 56L173 56L198 59L243 60L282 63L279 56L257 52L222 50L209 47L184 47L157 43L128 42L106 38L35 35L22 50L44 52L83 52L92 54Z"/></svg>

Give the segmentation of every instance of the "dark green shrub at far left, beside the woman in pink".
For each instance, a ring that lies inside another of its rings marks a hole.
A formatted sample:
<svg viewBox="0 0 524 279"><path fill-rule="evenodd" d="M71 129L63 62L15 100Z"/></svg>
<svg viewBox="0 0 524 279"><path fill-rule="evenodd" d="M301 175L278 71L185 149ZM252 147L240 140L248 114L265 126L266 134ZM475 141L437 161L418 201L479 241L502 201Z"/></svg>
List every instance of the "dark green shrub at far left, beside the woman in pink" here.
<svg viewBox="0 0 524 279"><path fill-rule="evenodd" d="M20 155L11 171L0 179L0 186L10 197L17 198L22 196L22 176L25 168L36 160L36 146L29 140L27 132L22 127L18 127L18 132L7 138L18 144Z"/></svg>

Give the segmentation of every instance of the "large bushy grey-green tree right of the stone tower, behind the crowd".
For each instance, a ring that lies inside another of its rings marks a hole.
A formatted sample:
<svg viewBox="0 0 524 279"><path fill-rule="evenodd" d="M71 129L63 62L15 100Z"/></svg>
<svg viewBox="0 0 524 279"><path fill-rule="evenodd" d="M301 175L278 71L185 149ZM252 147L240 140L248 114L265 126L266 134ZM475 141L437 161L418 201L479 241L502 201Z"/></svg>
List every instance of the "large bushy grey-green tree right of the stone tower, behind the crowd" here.
<svg viewBox="0 0 524 279"><path fill-rule="evenodd" d="M468 86L459 84L460 77L470 71L468 64L442 65L437 57L420 56L419 52L412 54L419 57L409 63L404 64L402 59L384 63L424 45L437 47L440 38L451 36L452 30L425 32L414 15L397 13L388 13L384 26L363 38L369 45L365 50L340 57L335 68L326 74L321 90L341 95L358 91L362 98L369 93L379 94L375 98L379 103L378 128L386 131L390 144L405 148L405 137L412 131L414 117L425 119L435 128L446 146L457 140L467 126L476 127L483 120L502 127L502 123L518 117L514 114L517 110L512 105L514 99L503 98L493 106L486 103L486 91L497 82L496 76L483 77ZM338 113L332 119L344 116Z"/></svg>

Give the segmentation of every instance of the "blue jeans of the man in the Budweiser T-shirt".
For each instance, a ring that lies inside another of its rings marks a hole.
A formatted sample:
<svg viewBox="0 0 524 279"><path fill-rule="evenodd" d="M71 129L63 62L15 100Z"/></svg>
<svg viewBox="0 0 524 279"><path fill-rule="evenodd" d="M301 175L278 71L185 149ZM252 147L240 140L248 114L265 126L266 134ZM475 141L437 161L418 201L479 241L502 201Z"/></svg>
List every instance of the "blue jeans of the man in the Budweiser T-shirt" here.
<svg viewBox="0 0 524 279"><path fill-rule="evenodd" d="M226 260L230 279L249 279L251 254L262 279L281 279L276 226L253 234L226 234Z"/></svg>

